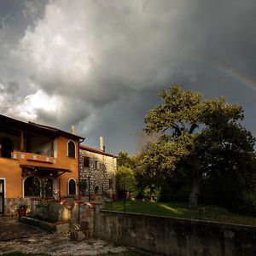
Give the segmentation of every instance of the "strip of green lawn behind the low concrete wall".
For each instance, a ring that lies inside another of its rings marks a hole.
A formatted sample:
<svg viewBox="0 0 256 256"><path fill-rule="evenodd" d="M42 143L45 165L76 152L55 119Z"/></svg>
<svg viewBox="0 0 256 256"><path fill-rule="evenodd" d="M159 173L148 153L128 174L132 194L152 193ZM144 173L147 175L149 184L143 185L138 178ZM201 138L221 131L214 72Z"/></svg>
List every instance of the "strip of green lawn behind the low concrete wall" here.
<svg viewBox="0 0 256 256"><path fill-rule="evenodd" d="M124 212L124 201L107 204L106 210ZM243 224L256 226L256 218L236 214L222 207L201 206L198 209L189 209L187 203L155 202L155 201L126 201L125 212L136 212L172 218L192 218L211 220L220 223Z"/></svg>

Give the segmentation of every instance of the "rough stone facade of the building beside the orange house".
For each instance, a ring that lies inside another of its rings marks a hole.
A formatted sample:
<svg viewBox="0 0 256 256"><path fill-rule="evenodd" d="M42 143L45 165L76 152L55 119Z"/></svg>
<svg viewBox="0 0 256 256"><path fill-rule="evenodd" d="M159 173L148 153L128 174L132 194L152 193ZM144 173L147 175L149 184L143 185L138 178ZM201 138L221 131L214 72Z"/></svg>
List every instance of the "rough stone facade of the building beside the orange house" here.
<svg viewBox="0 0 256 256"><path fill-rule="evenodd" d="M86 158L86 160L84 160ZM80 179L89 184L90 195L115 195L117 158L96 148L80 146ZM86 193L89 193L87 189Z"/></svg>

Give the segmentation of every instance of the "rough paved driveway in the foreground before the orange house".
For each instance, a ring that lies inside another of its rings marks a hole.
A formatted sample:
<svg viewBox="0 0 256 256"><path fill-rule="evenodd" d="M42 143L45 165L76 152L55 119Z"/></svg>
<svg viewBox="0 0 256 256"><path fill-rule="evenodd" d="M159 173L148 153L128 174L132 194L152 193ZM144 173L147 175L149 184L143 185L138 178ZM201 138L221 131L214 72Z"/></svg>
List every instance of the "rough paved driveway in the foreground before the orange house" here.
<svg viewBox="0 0 256 256"><path fill-rule="evenodd" d="M52 234L22 224L17 218L0 217L0 255L10 252L48 253L50 255L100 255L122 253L125 247L113 247L106 241L90 239L71 241L68 236Z"/></svg>

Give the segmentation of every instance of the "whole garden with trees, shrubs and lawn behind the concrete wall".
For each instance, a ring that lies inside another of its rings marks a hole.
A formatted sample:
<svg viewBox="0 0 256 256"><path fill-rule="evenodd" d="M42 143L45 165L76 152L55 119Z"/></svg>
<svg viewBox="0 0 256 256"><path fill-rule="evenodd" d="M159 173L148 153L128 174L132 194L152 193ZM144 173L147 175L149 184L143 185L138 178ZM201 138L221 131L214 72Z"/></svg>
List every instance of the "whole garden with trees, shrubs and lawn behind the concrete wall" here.
<svg viewBox="0 0 256 256"><path fill-rule="evenodd" d="M255 137L240 105L173 86L146 115L137 154L119 152L108 210L255 225Z"/></svg>

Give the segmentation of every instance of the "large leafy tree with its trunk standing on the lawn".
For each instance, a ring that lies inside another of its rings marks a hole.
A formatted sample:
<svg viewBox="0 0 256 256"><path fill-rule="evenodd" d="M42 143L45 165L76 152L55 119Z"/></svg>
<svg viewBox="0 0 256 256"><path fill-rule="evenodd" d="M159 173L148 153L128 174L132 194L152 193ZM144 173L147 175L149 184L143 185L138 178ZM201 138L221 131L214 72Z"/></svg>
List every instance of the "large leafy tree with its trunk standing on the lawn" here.
<svg viewBox="0 0 256 256"><path fill-rule="evenodd" d="M144 131L164 134L141 160L147 177L165 179L177 172L189 177L189 207L197 206L201 180L213 172L232 172L249 183L254 138L241 127L241 106L228 104L224 97L205 100L177 86L162 90L160 96L162 104L144 119Z"/></svg>

